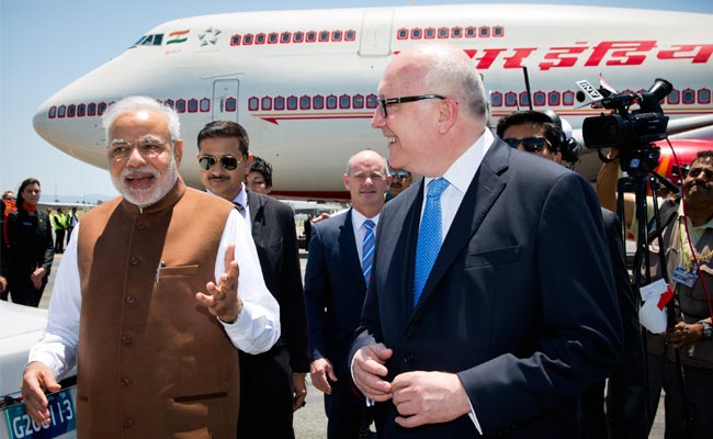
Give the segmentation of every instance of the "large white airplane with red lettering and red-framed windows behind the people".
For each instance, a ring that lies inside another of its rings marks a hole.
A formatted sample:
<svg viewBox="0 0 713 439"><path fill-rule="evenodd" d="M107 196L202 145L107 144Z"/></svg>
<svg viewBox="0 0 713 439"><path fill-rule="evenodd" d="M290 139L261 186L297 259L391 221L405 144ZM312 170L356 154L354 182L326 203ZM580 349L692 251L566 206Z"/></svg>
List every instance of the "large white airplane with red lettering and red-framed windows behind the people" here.
<svg viewBox="0 0 713 439"><path fill-rule="evenodd" d="M101 114L144 94L179 113L181 175L200 187L197 132L240 123L251 153L273 165L272 194L346 200L341 175L355 151L387 154L370 127L385 66L405 47L462 47L483 75L490 124L512 111L550 109L581 139L601 114L577 81L601 77L623 93L665 78L671 138L713 139L712 14L599 7L477 4L227 13L170 21L44 102L35 131L60 150L107 168ZM525 91L527 68L531 91ZM710 143L708 144L710 148ZM587 153L591 153L588 150ZM590 181L600 161L576 170Z"/></svg>

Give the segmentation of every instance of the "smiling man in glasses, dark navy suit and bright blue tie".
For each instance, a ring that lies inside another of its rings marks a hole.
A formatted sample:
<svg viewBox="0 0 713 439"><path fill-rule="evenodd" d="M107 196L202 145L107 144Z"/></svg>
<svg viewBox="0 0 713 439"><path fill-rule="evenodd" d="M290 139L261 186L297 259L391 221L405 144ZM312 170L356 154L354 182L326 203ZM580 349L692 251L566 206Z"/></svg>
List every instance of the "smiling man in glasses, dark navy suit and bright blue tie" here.
<svg viewBox="0 0 713 439"><path fill-rule="evenodd" d="M377 432L578 437L579 394L621 350L592 188L494 138L461 48L404 49L378 98L389 162L425 179L382 212L350 353Z"/></svg>

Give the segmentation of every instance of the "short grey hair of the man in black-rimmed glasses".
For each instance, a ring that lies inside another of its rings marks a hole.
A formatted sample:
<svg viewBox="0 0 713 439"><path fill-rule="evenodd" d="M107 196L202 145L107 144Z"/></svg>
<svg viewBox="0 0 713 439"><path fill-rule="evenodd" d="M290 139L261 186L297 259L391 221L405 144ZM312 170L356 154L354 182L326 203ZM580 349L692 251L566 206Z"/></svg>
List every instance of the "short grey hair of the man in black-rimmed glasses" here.
<svg viewBox="0 0 713 439"><path fill-rule="evenodd" d="M465 103L466 111L478 119L488 119L483 78L472 61L452 56L441 56L426 74L427 90L445 88L445 95L454 95Z"/></svg>

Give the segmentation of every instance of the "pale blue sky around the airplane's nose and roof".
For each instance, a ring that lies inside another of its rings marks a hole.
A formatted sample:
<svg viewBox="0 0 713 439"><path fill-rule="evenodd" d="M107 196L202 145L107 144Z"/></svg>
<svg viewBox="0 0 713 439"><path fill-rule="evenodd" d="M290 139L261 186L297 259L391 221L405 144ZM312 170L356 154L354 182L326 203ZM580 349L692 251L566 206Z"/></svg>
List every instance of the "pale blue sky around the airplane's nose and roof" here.
<svg viewBox="0 0 713 439"><path fill-rule="evenodd" d="M39 137L32 117L69 82L121 54L149 29L173 19L222 12L495 3L478 0L0 0L0 191L39 179L55 194L115 195L105 170L60 153ZM614 5L713 13L713 1L520 0L517 3ZM634 18L632 18L634 19ZM546 31L546 30L545 30Z"/></svg>

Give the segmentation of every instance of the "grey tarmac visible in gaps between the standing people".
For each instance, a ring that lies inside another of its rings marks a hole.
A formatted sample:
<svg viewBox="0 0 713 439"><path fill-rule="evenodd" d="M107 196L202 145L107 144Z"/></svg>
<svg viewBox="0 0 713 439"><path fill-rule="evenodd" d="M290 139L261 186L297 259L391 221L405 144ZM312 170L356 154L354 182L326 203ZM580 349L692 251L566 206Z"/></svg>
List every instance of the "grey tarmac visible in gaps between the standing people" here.
<svg viewBox="0 0 713 439"><path fill-rule="evenodd" d="M52 297L52 288L54 278L59 268L63 255L55 255L49 281L45 290L45 294L39 302L41 308L47 308L49 299ZM302 273L304 279L305 267L307 264L307 252L299 250L299 262L302 264ZM325 415L324 398L320 391L312 385L309 375L307 375L307 399L306 405L295 413L294 429L296 439L327 439L327 416ZM374 426L372 425L372 430ZM659 409L654 420L654 427L649 435L649 439L664 439L664 395L659 402Z"/></svg>

